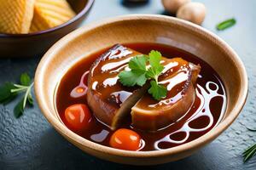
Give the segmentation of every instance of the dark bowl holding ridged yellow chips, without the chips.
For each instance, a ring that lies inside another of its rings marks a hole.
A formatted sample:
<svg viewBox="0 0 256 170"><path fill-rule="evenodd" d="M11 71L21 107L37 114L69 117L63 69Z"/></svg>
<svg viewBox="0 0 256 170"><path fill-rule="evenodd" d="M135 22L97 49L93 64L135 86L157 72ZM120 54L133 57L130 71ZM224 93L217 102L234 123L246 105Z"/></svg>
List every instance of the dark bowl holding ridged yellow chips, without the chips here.
<svg viewBox="0 0 256 170"><path fill-rule="evenodd" d="M28 34L0 34L0 58L32 57L44 54L61 37L75 30L89 14L94 0L68 0L76 16L49 30Z"/></svg>

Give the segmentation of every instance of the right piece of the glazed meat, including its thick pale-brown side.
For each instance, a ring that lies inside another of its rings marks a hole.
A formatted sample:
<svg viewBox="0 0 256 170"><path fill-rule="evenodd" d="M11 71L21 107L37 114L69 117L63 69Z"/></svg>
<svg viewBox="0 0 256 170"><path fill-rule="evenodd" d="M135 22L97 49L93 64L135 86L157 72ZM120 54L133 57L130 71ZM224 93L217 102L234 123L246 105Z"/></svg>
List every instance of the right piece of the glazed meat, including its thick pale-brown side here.
<svg viewBox="0 0 256 170"><path fill-rule="evenodd" d="M156 131L176 122L194 103L194 84L201 67L181 58L163 58L162 65L165 69L159 83L167 88L166 98L157 101L150 94L144 94L131 108L133 127Z"/></svg>

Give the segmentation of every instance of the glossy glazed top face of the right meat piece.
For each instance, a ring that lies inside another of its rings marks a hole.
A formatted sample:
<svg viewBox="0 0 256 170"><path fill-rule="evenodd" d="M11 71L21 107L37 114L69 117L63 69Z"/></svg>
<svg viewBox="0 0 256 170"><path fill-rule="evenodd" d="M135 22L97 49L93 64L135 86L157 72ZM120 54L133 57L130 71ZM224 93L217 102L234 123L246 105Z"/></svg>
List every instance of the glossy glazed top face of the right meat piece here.
<svg viewBox="0 0 256 170"><path fill-rule="evenodd" d="M153 99L150 94L144 94L144 97L137 104L137 107L143 110L157 111L164 105L174 105L182 99L188 86L187 82L190 81L191 71L188 61L181 58L163 58L161 61L163 61L161 63L165 68L158 81L167 89L166 98L158 101Z"/></svg>

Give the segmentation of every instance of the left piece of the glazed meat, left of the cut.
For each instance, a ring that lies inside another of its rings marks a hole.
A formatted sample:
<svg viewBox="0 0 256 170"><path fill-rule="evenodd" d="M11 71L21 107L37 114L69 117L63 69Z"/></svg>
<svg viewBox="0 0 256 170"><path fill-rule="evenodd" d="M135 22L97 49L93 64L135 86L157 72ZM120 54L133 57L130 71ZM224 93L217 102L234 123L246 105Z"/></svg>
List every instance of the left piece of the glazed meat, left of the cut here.
<svg viewBox="0 0 256 170"><path fill-rule="evenodd" d="M118 74L128 68L130 59L138 55L137 51L115 45L96 60L90 68L88 77L87 102L96 118L115 129L148 89L124 87Z"/></svg>

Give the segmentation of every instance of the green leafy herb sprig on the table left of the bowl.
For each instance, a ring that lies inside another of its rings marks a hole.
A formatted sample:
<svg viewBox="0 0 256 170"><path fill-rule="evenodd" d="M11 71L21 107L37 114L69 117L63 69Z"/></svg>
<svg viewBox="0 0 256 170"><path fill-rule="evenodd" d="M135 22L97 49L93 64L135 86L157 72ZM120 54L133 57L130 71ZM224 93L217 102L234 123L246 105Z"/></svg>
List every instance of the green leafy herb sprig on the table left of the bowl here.
<svg viewBox="0 0 256 170"><path fill-rule="evenodd" d="M17 105L15 105L14 113L15 117L20 117L25 108L26 108L26 102L28 102L30 105L33 105L33 99L32 99L32 86L33 82L31 81L31 78L28 76L27 73L23 73L20 76L20 84L13 84L11 82L5 82L0 87L0 104L8 104L18 94L24 94L22 99L20 99L20 102L18 102Z"/></svg>

